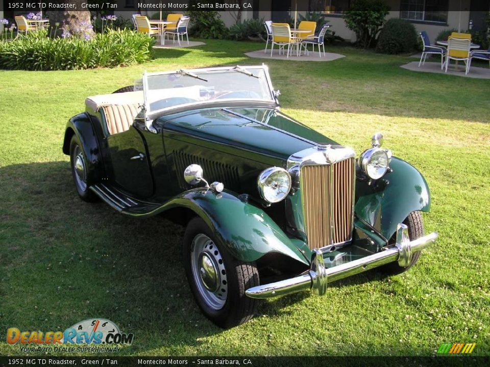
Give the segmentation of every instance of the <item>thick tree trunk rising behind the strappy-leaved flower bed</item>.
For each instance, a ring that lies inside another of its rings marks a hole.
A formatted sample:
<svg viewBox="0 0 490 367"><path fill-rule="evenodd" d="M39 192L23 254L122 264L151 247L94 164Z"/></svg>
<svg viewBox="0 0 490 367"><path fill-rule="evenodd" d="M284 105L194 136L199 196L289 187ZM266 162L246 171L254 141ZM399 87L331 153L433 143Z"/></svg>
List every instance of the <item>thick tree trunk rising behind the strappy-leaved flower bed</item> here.
<svg viewBox="0 0 490 367"><path fill-rule="evenodd" d="M76 9L82 9L85 0L63 0L64 3L75 4ZM50 11L47 12L50 17L50 34L56 30L56 36L80 36L87 39L94 34L90 22L89 11ZM58 24L58 25L57 25Z"/></svg>

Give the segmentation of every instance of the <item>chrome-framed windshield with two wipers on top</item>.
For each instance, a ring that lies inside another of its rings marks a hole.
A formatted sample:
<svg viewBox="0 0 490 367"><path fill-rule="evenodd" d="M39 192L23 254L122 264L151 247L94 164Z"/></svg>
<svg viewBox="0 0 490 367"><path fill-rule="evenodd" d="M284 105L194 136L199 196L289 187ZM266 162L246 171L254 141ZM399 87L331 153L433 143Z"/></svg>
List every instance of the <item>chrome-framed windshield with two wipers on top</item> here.
<svg viewBox="0 0 490 367"><path fill-rule="evenodd" d="M274 101L264 67L237 66L146 74L143 85L145 107L150 114L196 102Z"/></svg>

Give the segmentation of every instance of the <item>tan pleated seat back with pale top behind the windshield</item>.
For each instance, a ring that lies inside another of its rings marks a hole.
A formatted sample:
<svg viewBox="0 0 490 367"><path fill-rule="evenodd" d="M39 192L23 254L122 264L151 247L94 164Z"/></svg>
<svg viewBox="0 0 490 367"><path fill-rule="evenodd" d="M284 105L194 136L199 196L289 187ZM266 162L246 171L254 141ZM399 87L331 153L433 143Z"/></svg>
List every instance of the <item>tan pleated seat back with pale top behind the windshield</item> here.
<svg viewBox="0 0 490 367"><path fill-rule="evenodd" d="M109 135L129 130L135 117L141 112L143 92L112 93L87 97L87 111L102 110Z"/></svg>

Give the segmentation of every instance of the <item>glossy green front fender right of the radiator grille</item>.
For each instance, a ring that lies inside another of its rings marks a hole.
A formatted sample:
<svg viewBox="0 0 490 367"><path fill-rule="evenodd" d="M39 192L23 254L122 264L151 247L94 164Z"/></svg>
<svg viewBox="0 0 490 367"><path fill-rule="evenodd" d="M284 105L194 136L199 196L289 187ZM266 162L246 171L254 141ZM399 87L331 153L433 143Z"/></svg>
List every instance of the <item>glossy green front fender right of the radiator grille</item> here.
<svg viewBox="0 0 490 367"><path fill-rule="evenodd" d="M410 212L430 209L430 193L422 174L407 162L393 158L392 172L372 185L356 182L355 214L386 239L396 232Z"/></svg>

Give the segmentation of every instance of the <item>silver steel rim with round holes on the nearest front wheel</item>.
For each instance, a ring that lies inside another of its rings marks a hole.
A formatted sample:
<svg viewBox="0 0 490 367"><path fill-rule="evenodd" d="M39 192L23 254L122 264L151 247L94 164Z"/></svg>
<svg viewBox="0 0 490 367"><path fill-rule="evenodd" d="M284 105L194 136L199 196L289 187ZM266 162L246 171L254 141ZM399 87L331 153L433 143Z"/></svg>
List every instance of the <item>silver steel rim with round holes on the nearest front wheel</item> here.
<svg viewBox="0 0 490 367"><path fill-rule="evenodd" d="M210 308L222 309L228 295L228 279L221 253L203 233L194 237L190 251L192 277L201 298Z"/></svg>

